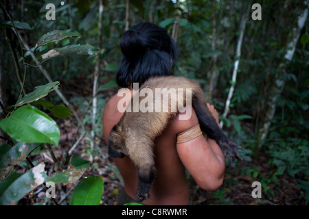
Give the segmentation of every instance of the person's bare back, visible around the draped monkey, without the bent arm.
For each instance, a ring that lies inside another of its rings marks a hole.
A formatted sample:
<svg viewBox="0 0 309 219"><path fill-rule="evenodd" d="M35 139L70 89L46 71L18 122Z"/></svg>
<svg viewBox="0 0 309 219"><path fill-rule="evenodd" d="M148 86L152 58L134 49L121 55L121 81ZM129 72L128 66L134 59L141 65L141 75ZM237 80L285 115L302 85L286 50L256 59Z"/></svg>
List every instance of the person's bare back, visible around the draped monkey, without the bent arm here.
<svg viewBox="0 0 309 219"><path fill-rule="evenodd" d="M133 92L131 93L133 95ZM108 140L109 133L116 125L123 113L117 110L117 103L122 96L113 96L103 114L104 138ZM126 97L128 99L131 96ZM176 120L177 118L174 118ZM198 123L188 121L190 124ZM190 201L189 187L185 177L185 167L176 150L176 135L186 127L177 127L172 123L165 129L154 148L157 176L150 190L150 199L143 201L146 205L187 205ZM114 159L119 172L124 179L124 190L131 197L136 197L137 172L134 164L128 157Z"/></svg>

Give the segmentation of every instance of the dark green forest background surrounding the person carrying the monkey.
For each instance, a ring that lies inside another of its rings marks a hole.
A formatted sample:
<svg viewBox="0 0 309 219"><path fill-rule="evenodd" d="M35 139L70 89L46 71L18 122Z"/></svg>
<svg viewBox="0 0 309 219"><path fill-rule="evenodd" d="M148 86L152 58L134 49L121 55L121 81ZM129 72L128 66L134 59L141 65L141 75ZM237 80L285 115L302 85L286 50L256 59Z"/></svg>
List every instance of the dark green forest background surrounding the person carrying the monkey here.
<svg viewBox="0 0 309 219"><path fill-rule="evenodd" d="M56 7L55 20L47 20L47 3ZM260 20L254 19L254 3L261 5ZM108 159L101 117L106 101L119 89L119 39L136 23L150 21L176 40L180 54L175 75L201 84L220 112L222 130L245 148L240 152L243 162L227 160L225 181L216 192L200 190L188 175L194 204L308 205L307 14L308 1L303 0L1 0L0 119L9 121L18 117L14 111L32 105L60 129L56 144L27 143L31 150L18 154L12 149L22 151L23 140L0 123L1 204L69 205L76 197L72 192L88 177L98 184L102 179L98 203L115 205L122 179ZM65 37L45 39L36 47L53 31L64 31ZM65 49L43 59L56 48ZM48 88L48 95L19 103L36 87L54 81L60 83ZM37 99L48 102L34 103ZM71 114L57 116L47 103L62 105L60 114ZM31 170L43 164L45 182L52 176L56 181L55 198L45 196L43 181L30 188L21 180L35 181ZM69 170L75 177L67 177ZM251 196L254 181L262 185L262 198ZM21 191L14 196L17 188Z"/></svg>

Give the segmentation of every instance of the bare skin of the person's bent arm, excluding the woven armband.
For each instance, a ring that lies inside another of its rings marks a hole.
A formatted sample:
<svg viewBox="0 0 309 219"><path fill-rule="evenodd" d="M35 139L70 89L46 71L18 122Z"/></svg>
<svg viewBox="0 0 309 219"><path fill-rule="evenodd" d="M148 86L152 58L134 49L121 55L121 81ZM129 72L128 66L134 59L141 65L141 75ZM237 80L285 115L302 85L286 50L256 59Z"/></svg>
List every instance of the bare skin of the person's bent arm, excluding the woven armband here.
<svg viewBox="0 0 309 219"><path fill-rule="evenodd" d="M208 105L209 110L218 122L218 113L213 106ZM196 114L192 114L190 120L179 120L189 127L198 125ZM183 165L190 172L196 183L204 190L214 191L222 185L225 175L225 156L222 154L216 141L206 140L203 135L190 141L177 143L177 152Z"/></svg>

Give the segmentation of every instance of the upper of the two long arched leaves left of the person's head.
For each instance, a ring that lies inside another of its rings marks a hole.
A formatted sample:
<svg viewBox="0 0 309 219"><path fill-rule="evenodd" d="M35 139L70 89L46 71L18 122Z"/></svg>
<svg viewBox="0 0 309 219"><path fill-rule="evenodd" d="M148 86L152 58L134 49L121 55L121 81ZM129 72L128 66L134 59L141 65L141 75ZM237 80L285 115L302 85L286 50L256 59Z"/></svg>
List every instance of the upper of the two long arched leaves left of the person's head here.
<svg viewBox="0 0 309 219"><path fill-rule="evenodd" d="M63 40L65 38L81 38L81 37L82 35L80 35L78 31L73 29L50 31L38 39L36 47L34 48L34 52L36 51L36 49L38 49L38 47L41 47L50 42L56 42L58 40Z"/></svg>

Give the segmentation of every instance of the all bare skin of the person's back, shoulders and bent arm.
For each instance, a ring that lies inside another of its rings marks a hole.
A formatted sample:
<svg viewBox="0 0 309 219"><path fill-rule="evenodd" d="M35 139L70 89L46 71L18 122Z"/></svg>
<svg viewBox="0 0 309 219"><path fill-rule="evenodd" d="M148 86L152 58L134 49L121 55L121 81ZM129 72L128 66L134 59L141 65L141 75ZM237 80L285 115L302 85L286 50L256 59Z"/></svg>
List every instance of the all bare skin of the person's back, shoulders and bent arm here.
<svg viewBox="0 0 309 219"><path fill-rule="evenodd" d="M117 103L121 99L131 99L131 95L117 96L115 94L105 105L102 116L104 138L108 142L108 136L123 113L117 110ZM216 118L218 113L212 105L209 111ZM185 112L183 113L185 114ZM179 113L157 138L154 147L157 176L150 190L150 198L142 201L146 205L187 205L190 201L190 192L185 169L190 172L196 183L208 191L217 190L225 174L225 156L218 144L203 135L184 142L176 143L178 133L186 131L198 125L198 118L192 109L192 116L188 120L179 119ZM130 158L114 158L115 165L119 169L124 180L124 190L131 198L136 199L137 172Z"/></svg>

